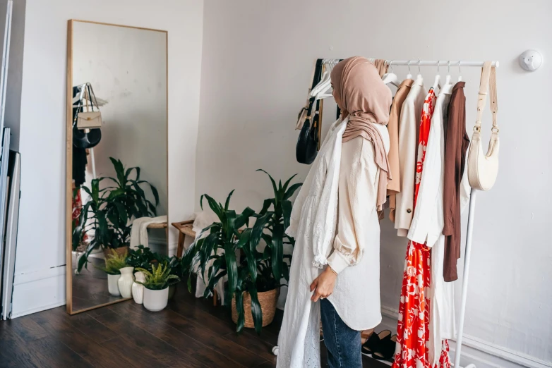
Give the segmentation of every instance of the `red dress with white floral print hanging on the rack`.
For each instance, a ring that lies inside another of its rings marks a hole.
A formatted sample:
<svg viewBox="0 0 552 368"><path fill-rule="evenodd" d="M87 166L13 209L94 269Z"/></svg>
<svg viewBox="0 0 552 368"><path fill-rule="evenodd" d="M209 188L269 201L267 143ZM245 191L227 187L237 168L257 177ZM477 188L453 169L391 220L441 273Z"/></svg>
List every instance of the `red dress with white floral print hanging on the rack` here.
<svg viewBox="0 0 552 368"><path fill-rule="evenodd" d="M416 207L421 172L424 169L426 159L429 128L431 127L435 100L435 92L431 88L424 101L424 108L421 113L416 181L414 183L414 207ZM402 278L394 368L429 367L426 345L429 338L430 301L426 296L426 290L428 290L430 283L430 260L430 249L426 245L413 241L408 242L407 257L404 262L404 276ZM439 363L440 367L450 368L447 341L443 341L443 352Z"/></svg>

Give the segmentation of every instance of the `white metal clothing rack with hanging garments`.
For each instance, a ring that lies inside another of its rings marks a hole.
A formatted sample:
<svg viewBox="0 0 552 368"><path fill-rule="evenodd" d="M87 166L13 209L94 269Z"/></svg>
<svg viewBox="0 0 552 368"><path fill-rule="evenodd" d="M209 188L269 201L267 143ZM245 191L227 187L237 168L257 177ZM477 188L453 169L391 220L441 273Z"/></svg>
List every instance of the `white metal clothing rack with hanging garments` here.
<svg viewBox="0 0 552 368"><path fill-rule="evenodd" d="M388 60L386 61L388 66L408 66L409 68L419 67L419 66L455 66L460 68L461 66L475 66L482 68L484 61L450 61L450 60ZM492 66L498 68L498 61L493 61ZM464 250L464 275L462 277L462 300L460 302L460 321L458 323L458 337L456 339L456 349L455 349L455 363L454 367L460 367L460 357L462 351L462 335L464 333L464 315L466 313L466 300L467 300L467 289L468 289L468 277L469 277L469 262L472 255L472 235L474 228L474 217L475 217L475 199L476 192L474 188L471 190L471 195L469 197L469 214L468 214L468 225L467 225L467 235L466 235L466 247ZM465 368L476 368L475 364L468 364Z"/></svg>

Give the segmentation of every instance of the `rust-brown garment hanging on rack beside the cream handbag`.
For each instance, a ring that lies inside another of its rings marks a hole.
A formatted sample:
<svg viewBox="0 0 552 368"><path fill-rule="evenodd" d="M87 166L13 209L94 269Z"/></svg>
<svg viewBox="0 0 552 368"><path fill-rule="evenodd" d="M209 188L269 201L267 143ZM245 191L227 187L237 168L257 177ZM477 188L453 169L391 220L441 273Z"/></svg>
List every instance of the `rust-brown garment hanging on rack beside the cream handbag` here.
<svg viewBox="0 0 552 368"><path fill-rule="evenodd" d="M460 182L464 174L469 137L466 133L465 82L452 88L448 119L445 118L445 183L443 186L443 216L445 226L445 281L458 278L457 260L460 258Z"/></svg>

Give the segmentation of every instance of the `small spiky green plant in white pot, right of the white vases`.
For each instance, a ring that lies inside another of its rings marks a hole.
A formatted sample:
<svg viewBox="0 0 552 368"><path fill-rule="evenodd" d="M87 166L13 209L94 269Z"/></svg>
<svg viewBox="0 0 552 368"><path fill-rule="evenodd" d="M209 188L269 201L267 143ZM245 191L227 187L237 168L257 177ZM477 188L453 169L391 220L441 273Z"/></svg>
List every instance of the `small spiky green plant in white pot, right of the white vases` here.
<svg viewBox="0 0 552 368"><path fill-rule="evenodd" d="M145 276L145 281L140 282L144 286L144 307L152 312L157 312L167 307L169 300L169 286L180 281L179 276L170 274L167 262L152 264L152 271L138 269Z"/></svg>

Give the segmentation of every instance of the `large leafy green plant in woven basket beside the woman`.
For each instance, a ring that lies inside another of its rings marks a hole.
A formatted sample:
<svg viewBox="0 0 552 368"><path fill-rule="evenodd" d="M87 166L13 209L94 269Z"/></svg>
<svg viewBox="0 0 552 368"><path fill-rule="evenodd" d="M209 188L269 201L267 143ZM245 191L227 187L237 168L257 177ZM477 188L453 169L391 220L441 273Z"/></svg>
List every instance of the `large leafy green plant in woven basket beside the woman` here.
<svg viewBox="0 0 552 368"><path fill-rule="evenodd" d="M210 231L210 234L186 250L181 262L182 271L190 274L188 290L191 290L191 273L196 265L201 277L208 275L205 297L213 292L222 277L228 276L226 299L232 299L232 319L238 332L246 326L254 327L260 333L263 326L272 322L280 281L282 276L285 280L289 279L289 266L283 260L283 239L286 237L282 235L278 238L274 230L278 231L279 226L289 223L291 207L287 207L286 201L300 186L288 188L292 178L284 185L280 182L279 187L275 186L276 197L265 201L260 214L255 214L249 207L241 214L229 209L234 191L230 192L224 206L208 195L201 196L202 209L205 198L220 221L203 229L203 233ZM275 185L274 180L272 182ZM269 211L270 204L273 204L274 211ZM256 217L256 221L250 228L248 223L251 217ZM243 226L246 228L240 231ZM265 230L270 234L265 234ZM261 238L267 243L263 252L258 250ZM293 239L286 240L286 243L293 243ZM224 250L223 254L217 252L219 249ZM238 250L243 257L236 257ZM213 262L208 266L211 259Z"/></svg>

